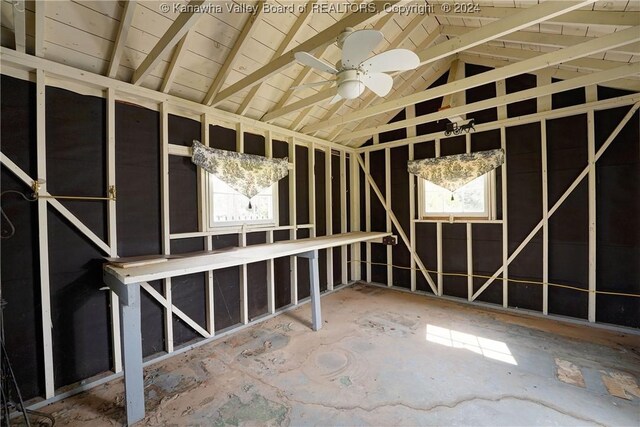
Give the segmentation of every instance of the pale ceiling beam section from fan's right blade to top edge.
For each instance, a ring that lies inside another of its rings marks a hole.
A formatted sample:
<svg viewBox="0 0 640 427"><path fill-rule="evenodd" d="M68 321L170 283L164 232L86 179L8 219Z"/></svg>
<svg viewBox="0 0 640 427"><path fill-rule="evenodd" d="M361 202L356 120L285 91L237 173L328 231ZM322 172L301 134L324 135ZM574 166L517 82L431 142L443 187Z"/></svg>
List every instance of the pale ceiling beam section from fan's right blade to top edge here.
<svg viewBox="0 0 640 427"><path fill-rule="evenodd" d="M548 1L528 9L519 9L519 12L509 15L499 21L491 22L484 27L474 28L468 33L440 43L418 52L422 64L437 61L453 53L467 50L471 47L500 38L534 24L547 21L556 16L587 6L595 0L581 1ZM474 15L475 16L475 15Z"/></svg>

